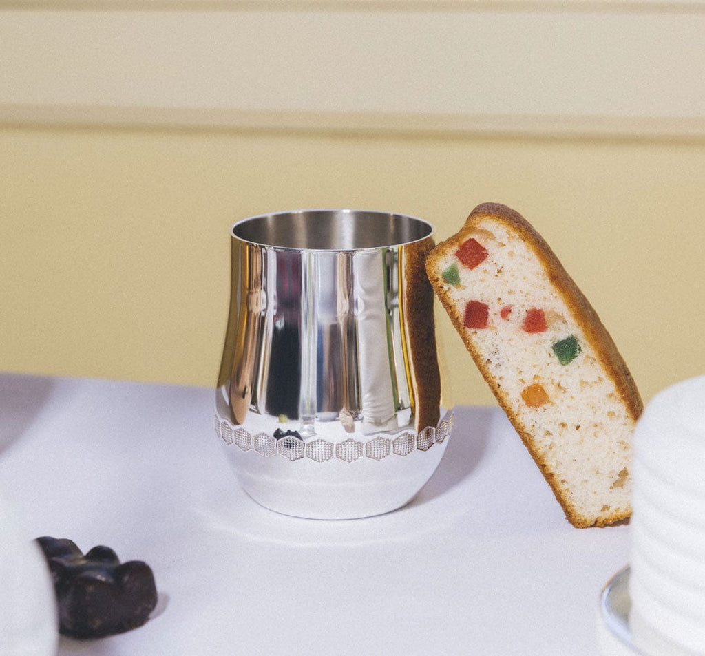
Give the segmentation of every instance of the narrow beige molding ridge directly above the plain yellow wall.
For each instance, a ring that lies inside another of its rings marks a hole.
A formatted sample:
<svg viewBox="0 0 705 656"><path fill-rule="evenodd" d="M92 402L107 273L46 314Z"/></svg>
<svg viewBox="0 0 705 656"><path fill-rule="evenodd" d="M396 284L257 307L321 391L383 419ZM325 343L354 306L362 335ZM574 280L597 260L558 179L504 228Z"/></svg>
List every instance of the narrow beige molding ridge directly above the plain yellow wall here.
<svg viewBox="0 0 705 656"><path fill-rule="evenodd" d="M398 137L495 136L705 141L705 116L668 119L0 104L0 125L24 128L43 125L64 128L285 131Z"/></svg>

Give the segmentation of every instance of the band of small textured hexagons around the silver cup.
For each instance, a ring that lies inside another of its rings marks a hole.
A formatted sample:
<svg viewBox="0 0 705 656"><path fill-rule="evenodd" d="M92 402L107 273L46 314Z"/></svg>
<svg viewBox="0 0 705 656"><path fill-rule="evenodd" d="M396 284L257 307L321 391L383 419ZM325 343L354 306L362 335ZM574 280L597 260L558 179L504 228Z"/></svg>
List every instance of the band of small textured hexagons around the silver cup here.
<svg viewBox="0 0 705 656"><path fill-rule="evenodd" d="M376 435L367 442L348 438L342 442L333 443L316 438L305 442L300 438L286 435L275 438L267 433L252 435L243 426L235 426L227 419L217 415L214 417L216 435L226 444L233 444L240 451L253 451L262 457L280 455L288 460L309 459L314 462L342 460L355 462L360 458L381 460L386 457L404 457L412 451L428 451L434 444L440 444L448 438L453 430L453 413L448 412L439 421L438 426L427 426L419 433L405 431L394 437Z"/></svg>

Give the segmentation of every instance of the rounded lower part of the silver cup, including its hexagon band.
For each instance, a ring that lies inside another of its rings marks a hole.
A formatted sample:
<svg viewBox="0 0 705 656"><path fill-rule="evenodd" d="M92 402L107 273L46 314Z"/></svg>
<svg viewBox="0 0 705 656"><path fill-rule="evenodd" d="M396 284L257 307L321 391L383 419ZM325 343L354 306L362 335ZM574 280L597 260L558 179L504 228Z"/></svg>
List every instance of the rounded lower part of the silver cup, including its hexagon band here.
<svg viewBox="0 0 705 656"><path fill-rule="evenodd" d="M252 436L217 416L216 432L218 423L228 462L259 505L306 519L360 519L403 507L419 493L443 458L452 415L419 434L364 442L353 434L338 443Z"/></svg>

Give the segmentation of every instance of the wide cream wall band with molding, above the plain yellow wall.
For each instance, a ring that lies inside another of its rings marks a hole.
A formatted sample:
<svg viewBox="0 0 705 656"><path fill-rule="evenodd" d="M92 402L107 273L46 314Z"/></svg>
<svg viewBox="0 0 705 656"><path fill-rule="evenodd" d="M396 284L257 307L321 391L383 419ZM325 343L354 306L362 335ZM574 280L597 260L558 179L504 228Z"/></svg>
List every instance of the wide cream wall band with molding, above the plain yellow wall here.
<svg viewBox="0 0 705 656"><path fill-rule="evenodd" d="M370 1L5 1L0 122L705 137L705 0L685 12L642 11L649 0L605 12L575 11L583 0L546 11L527 10L533 0ZM143 10L160 2L179 9Z"/></svg>

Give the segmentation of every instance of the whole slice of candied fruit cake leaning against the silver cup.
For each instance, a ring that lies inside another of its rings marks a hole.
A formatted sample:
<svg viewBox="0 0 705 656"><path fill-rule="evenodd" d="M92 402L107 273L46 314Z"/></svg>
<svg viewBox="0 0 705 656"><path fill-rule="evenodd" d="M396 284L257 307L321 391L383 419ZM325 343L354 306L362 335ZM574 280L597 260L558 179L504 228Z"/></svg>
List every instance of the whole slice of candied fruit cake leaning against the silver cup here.
<svg viewBox="0 0 705 656"><path fill-rule="evenodd" d="M642 412L625 361L546 241L519 213L477 206L436 246L427 275L568 520L631 513Z"/></svg>

